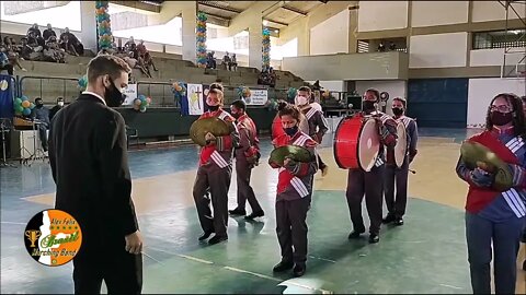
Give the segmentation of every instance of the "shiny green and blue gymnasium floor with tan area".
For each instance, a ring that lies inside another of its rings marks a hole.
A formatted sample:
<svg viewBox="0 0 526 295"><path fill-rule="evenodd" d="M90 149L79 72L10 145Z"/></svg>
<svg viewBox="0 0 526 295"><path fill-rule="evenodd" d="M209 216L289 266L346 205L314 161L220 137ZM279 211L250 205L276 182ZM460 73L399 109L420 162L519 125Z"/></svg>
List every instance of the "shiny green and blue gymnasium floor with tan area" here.
<svg viewBox="0 0 526 295"><path fill-rule="evenodd" d="M466 185L455 164L465 130L422 130L410 176L405 224L382 226L380 243L347 240L351 220L344 197L346 174L332 149L321 150L329 175L316 176L308 213L307 273L273 274L279 261L274 198L277 173L262 160L252 185L266 215L256 222L229 220L229 240L214 246L202 234L192 198L197 149L132 151L133 198L145 239L144 293L470 293L464 202ZM263 142L263 156L270 152ZM16 163L18 164L18 163ZM1 293L71 293L72 264L49 268L35 262L23 244L27 221L53 208L54 182L46 163L2 168ZM232 178L229 208L236 205ZM248 208L250 212L250 208ZM364 220L367 213L364 208ZM524 247L522 248L524 258ZM521 260L522 263L522 260ZM518 264L517 264L518 266ZM525 293L519 272L517 293Z"/></svg>

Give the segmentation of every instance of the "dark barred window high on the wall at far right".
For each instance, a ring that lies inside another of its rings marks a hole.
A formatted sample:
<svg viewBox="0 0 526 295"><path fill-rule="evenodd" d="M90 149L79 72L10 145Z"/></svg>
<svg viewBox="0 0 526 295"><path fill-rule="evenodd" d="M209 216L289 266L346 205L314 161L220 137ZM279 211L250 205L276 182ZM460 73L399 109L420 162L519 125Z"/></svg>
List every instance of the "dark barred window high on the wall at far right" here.
<svg viewBox="0 0 526 295"><path fill-rule="evenodd" d="M473 49L526 47L526 30L473 33Z"/></svg>

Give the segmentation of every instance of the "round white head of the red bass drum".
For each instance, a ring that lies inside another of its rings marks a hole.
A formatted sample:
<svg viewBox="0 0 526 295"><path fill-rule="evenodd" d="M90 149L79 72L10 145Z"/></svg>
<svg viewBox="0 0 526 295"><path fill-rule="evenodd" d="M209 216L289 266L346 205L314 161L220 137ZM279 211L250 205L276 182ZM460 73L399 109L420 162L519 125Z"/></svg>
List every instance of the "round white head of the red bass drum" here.
<svg viewBox="0 0 526 295"><path fill-rule="evenodd" d="M370 172L375 166L380 151L380 137L374 119L368 119L362 126L358 141L358 163L363 170Z"/></svg>

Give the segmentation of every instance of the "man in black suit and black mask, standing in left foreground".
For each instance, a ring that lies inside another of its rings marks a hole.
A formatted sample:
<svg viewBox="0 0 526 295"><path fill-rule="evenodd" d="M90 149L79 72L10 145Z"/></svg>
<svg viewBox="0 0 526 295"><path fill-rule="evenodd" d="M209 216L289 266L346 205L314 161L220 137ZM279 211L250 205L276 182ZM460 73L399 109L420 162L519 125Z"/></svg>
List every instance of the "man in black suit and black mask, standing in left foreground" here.
<svg viewBox="0 0 526 295"><path fill-rule="evenodd" d="M101 55L88 64L88 87L53 118L49 162L57 185L55 208L71 214L82 229L73 259L77 294L140 294L142 239L129 175L125 122L119 106L129 67Z"/></svg>

